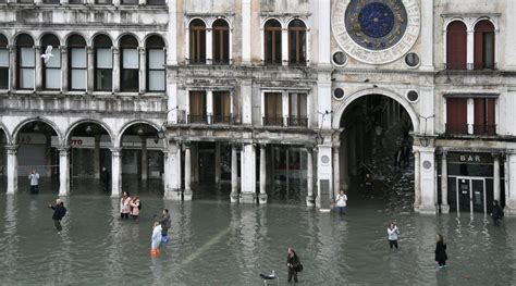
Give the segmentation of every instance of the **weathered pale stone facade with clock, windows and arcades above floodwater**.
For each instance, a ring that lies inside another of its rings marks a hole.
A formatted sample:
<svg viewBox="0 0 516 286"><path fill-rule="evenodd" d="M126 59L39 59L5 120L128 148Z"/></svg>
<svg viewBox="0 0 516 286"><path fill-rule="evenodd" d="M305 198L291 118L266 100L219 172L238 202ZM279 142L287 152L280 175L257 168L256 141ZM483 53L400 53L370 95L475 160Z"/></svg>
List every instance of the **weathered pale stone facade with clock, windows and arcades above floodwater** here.
<svg viewBox="0 0 516 286"><path fill-rule="evenodd" d="M229 182L231 201L263 203L292 184L327 208L364 157L357 114L381 99L410 125L416 211L489 212L496 199L516 212L512 1L8 0L0 11L9 194L21 165L59 176L61 195L70 174L106 165L112 196L134 174L161 178L168 199Z"/></svg>

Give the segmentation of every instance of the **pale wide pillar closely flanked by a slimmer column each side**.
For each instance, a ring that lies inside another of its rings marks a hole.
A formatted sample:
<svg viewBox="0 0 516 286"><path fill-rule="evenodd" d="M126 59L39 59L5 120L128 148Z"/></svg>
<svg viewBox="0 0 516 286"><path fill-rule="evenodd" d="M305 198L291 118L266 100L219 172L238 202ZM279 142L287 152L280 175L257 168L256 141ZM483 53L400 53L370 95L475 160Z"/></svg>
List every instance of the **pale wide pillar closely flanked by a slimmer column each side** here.
<svg viewBox="0 0 516 286"><path fill-rule="evenodd" d="M242 150L242 203L256 203L256 151L253 144Z"/></svg>

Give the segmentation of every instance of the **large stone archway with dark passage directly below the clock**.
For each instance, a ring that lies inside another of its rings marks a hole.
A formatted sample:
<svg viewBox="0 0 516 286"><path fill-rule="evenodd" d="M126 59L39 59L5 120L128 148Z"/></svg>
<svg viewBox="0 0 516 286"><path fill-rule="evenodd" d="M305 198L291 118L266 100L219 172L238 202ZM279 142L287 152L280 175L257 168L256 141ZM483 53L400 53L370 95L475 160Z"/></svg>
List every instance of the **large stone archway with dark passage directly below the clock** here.
<svg viewBox="0 0 516 286"><path fill-rule="evenodd" d="M365 89L345 98L334 114L332 127L342 130L334 138L340 144L334 156L334 192L343 188L373 197L377 187L367 187L367 173L381 191L414 189L409 132L419 129L419 120L404 97L386 89ZM402 182L405 173L410 178Z"/></svg>

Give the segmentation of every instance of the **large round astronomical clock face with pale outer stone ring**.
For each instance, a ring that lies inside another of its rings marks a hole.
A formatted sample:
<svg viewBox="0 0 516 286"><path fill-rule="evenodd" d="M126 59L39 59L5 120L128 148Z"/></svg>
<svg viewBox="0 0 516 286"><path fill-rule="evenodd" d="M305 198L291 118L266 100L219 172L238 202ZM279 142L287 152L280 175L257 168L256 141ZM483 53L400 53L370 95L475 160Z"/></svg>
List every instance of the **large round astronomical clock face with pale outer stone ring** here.
<svg viewBox="0 0 516 286"><path fill-rule="evenodd" d="M383 64L403 57L419 36L418 0L336 0L332 30L352 58Z"/></svg>

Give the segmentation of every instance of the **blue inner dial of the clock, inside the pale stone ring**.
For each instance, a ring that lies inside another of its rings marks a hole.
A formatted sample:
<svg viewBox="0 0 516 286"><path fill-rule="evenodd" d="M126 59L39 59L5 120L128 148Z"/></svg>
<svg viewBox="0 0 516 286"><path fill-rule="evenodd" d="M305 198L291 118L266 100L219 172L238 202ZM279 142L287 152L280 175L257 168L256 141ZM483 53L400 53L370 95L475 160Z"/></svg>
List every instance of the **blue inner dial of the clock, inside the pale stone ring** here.
<svg viewBox="0 0 516 286"><path fill-rule="evenodd" d="M360 47L384 50L405 34L407 12L402 0L351 0L345 25L349 37Z"/></svg>

